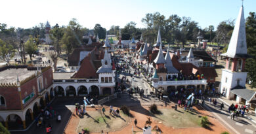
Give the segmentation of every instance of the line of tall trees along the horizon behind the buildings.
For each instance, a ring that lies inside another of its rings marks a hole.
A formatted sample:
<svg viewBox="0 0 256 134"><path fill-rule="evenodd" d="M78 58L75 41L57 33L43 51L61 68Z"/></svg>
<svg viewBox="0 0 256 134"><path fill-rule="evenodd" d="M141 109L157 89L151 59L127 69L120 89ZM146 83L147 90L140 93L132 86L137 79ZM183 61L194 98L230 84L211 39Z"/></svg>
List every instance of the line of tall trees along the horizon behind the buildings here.
<svg viewBox="0 0 256 134"><path fill-rule="evenodd" d="M121 37L123 40L135 39L139 40L140 36L147 40L150 44L156 42L158 28L161 30L161 38L163 43L177 44L181 46L188 42L196 42L198 36L207 39L209 42L215 42L218 46L222 44L227 46L234 29L234 20L226 20L220 22L217 27L209 25L202 28L190 17L180 17L176 14L171 16L163 16L159 12L148 13L142 18L142 23L146 28L136 27L135 22L129 22L121 29ZM246 69L248 80L252 81L252 85L256 87L256 17L255 12L249 12L249 16L245 20L247 34L248 53L253 58L247 59ZM120 27L112 25L108 31L108 35L116 35L119 37ZM82 27L76 19L70 20L68 25L59 26L58 24L51 27L50 35L57 56L64 51L70 54L74 48L82 44L87 44L88 35L98 35L99 39L105 39L106 28L100 24L96 24L93 29ZM200 32L200 35L198 33ZM22 62L26 54L32 56L37 51L38 44L43 42L45 38L45 25L43 23L29 29L9 27L7 24L0 24L0 58L9 62L14 56L14 52L19 52ZM93 41L96 41L93 39ZM226 47L227 48L227 47Z"/></svg>

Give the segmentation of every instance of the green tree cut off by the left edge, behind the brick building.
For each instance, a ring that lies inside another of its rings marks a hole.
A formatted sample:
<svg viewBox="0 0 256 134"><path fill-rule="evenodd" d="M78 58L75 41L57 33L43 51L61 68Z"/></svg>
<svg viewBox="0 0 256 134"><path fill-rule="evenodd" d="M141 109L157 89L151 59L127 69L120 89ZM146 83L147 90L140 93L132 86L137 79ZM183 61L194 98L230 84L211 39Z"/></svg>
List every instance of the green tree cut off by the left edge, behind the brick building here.
<svg viewBox="0 0 256 134"><path fill-rule="evenodd" d="M0 39L0 59L10 63L10 59L15 55L15 50L11 44L7 44Z"/></svg>

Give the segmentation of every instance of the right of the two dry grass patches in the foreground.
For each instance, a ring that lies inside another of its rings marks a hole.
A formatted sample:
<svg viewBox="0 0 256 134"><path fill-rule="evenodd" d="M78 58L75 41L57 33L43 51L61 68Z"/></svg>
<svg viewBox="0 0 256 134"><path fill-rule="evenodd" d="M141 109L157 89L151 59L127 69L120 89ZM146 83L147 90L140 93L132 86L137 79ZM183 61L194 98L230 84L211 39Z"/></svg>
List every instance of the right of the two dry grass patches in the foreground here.
<svg viewBox="0 0 256 134"><path fill-rule="evenodd" d="M161 114L153 114L153 120L162 122L165 126L179 127L201 127L200 115L195 112L184 112L183 109L178 111L173 109L159 109Z"/></svg>

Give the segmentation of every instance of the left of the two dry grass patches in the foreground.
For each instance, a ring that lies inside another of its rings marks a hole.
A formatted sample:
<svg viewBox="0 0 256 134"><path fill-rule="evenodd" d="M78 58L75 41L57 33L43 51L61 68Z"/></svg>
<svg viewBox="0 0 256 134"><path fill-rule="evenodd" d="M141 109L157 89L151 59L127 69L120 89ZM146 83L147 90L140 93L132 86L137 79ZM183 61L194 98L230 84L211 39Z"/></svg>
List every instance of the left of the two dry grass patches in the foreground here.
<svg viewBox="0 0 256 134"><path fill-rule="evenodd" d="M126 126L129 122L129 116L123 114L120 110L120 116L114 116L109 114L109 110L105 112L106 116L100 110L87 111L87 115L80 119L78 131L88 128L91 132L103 131L117 131L123 126Z"/></svg>

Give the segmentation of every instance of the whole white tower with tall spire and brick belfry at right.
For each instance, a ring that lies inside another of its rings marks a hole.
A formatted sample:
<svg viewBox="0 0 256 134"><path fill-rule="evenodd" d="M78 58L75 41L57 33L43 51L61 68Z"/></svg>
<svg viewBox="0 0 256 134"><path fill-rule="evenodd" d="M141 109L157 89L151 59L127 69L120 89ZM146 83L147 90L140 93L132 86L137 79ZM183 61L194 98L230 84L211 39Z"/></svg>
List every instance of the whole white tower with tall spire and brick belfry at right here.
<svg viewBox="0 0 256 134"><path fill-rule="evenodd" d="M244 7L240 8L236 25L230 39L228 50L221 54L226 57L225 69L222 69L221 93L226 93L227 99L234 98L230 92L236 87L245 87L247 72L244 72L247 55L245 34Z"/></svg>

